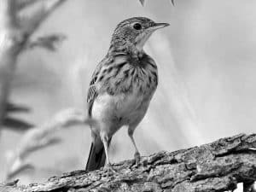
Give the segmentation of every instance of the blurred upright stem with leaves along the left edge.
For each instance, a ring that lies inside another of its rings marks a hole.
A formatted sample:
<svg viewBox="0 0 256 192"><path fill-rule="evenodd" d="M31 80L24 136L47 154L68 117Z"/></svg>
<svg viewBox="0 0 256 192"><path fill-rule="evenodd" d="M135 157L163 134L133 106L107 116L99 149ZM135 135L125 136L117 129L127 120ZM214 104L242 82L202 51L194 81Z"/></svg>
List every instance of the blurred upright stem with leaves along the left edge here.
<svg viewBox="0 0 256 192"><path fill-rule="evenodd" d="M41 46L55 50L63 35L50 35L30 42L30 38L42 22L66 0L3 0L0 2L0 131L3 128L22 130L31 127L24 120L10 116L17 108L9 106L11 81L15 74L17 58L27 48Z"/></svg>

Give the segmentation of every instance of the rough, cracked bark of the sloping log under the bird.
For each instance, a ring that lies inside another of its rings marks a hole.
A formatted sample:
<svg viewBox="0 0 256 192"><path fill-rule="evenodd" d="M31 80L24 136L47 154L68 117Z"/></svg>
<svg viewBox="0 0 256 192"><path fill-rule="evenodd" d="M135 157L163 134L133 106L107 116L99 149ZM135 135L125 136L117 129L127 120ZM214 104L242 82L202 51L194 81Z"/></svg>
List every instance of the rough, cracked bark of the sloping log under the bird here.
<svg viewBox="0 0 256 192"><path fill-rule="evenodd" d="M104 169L64 173L45 183L11 186L5 191L188 191L236 189L237 183L256 180L256 134L226 137L200 147L160 152L138 164L125 160Z"/></svg>

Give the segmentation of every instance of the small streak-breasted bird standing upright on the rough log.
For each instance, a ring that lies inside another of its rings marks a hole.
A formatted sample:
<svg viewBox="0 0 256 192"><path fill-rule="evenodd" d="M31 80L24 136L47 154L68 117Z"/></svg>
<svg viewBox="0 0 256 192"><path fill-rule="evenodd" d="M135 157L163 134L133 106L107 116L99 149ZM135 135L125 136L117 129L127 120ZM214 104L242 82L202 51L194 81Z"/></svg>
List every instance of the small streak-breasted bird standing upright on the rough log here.
<svg viewBox="0 0 256 192"><path fill-rule="evenodd" d="M135 148L134 158L140 160L133 133L158 84L157 65L143 46L152 33L166 26L169 24L132 17L114 29L108 53L96 66L87 94L88 116L96 125L90 126L92 143L86 171L104 166L114 172L108 148L114 133L124 125Z"/></svg>

